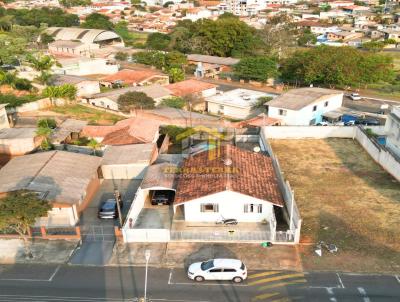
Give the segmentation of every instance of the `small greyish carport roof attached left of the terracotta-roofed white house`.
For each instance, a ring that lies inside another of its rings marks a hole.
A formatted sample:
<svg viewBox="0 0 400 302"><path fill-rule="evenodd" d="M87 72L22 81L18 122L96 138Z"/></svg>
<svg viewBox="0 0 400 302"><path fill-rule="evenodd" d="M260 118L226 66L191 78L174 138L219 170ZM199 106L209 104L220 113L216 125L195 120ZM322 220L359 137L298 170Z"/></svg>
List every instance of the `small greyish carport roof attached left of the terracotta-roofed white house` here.
<svg viewBox="0 0 400 302"><path fill-rule="evenodd" d="M142 189L165 188L175 190L176 173L173 172L175 168L177 168L177 165L171 163L161 163L149 166L140 187Z"/></svg>

